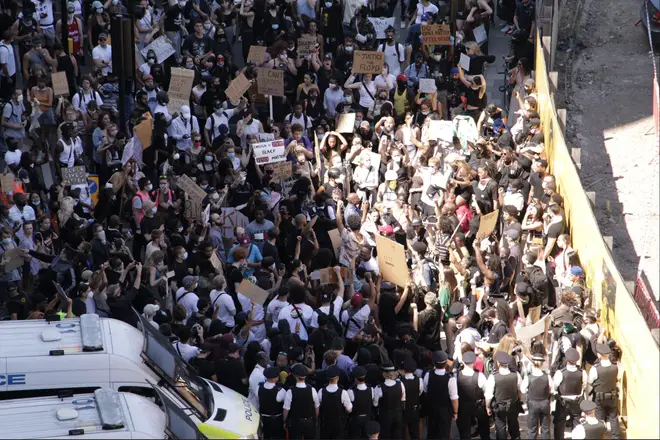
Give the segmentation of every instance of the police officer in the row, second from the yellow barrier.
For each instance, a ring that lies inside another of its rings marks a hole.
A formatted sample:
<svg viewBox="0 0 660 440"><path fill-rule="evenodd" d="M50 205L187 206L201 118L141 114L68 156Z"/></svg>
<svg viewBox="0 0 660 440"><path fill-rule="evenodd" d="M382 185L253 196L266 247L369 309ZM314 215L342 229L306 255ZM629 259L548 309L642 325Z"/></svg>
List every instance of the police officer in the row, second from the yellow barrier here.
<svg viewBox="0 0 660 440"><path fill-rule="evenodd" d="M571 429L580 419L580 402L587 387L587 373L577 366L580 353L574 348L566 350L566 367L557 370L552 377L552 385L557 395L554 414L554 438L564 440L566 416Z"/></svg>

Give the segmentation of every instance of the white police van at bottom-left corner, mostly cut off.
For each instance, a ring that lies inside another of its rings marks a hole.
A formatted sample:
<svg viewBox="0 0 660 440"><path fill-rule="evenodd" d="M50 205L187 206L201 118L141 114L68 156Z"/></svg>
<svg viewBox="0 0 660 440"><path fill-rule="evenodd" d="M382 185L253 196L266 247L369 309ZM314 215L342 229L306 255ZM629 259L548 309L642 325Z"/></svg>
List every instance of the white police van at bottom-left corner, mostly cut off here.
<svg viewBox="0 0 660 440"><path fill-rule="evenodd" d="M168 397L154 402L131 393L99 388L91 394L0 402L0 438L204 439Z"/></svg>

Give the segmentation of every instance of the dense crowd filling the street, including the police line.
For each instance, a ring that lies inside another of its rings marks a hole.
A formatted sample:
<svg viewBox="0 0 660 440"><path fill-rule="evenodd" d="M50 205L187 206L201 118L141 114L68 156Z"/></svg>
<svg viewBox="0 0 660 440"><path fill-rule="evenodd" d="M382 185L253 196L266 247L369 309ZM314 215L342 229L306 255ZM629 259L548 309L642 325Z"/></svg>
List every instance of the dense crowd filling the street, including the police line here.
<svg viewBox="0 0 660 440"><path fill-rule="evenodd" d="M540 4L458 4L3 2L0 317L137 326L137 310L245 395L266 439L619 438L621 351L544 152ZM135 20L130 96L118 14ZM506 109L484 77L494 16ZM428 25L451 43L425 43ZM358 73L355 51L382 70ZM282 96L259 92L267 69Z"/></svg>

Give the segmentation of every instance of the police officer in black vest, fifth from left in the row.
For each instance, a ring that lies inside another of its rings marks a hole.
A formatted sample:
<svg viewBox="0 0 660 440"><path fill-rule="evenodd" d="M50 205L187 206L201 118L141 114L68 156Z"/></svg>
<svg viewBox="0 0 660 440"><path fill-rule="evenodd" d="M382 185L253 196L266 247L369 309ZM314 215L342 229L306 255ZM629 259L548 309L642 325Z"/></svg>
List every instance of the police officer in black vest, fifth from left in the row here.
<svg viewBox="0 0 660 440"><path fill-rule="evenodd" d="M380 369L385 381L374 389L374 406L378 407L382 438L399 439L403 437L406 388L397 380L397 373L391 362L383 362Z"/></svg>

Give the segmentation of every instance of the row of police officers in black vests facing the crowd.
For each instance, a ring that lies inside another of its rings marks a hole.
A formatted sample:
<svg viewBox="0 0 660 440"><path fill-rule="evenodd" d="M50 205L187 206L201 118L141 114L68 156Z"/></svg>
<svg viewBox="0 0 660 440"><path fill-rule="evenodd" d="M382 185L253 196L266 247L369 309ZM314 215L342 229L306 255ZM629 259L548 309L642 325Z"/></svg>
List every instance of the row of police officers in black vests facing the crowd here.
<svg viewBox="0 0 660 440"><path fill-rule="evenodd" d="M265 439L315 439L317 422L321 439L421 438L420 417L427 419L427 439L451 438L452 420L461 439L472 437L476 426L481 440L490 438L490 417L497 439L521 438L518 417L523 413L521 395L527 396L527 436L550 437L551 401L556 401L554 438L563 439L566 428L572 438L600 439L607 431L619 438L618 367L608 360L609 347L598 345L600 362L587 374L577 362L579 353L569 349L565 368L552 377L542 369L544 357L532 358L532 372L521 375L509 368L512 357L495 354L495 371L488 378L473 369L474 352L462 356L455 374L446 369L444 351L433 354L433 371L422 378L415 374L412 358L397 371L391 363L381 365L383 382L375 388L365 383L367 370L355 367L354 385L342 389L340 369L325 370L327 386L316 390L305 382L308 369L295 364L295 385L280 385L280 369L264 371L266 382L259 389L259 411ZM592 400L584 399L588 393ZM584 417L582 417L584 415ZM288 435L287 435L288 434Z"/></svg>

